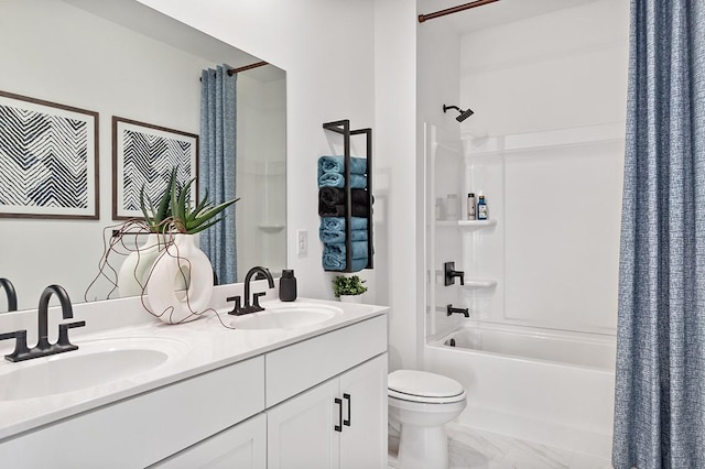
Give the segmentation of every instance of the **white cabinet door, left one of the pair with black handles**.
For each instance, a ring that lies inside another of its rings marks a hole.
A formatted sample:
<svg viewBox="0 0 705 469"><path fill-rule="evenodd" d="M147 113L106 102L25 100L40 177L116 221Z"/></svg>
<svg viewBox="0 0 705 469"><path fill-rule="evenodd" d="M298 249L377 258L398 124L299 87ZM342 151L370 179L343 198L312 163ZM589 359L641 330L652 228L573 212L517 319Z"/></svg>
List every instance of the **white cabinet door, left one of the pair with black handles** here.
<svg viewBox="0 0 705 469"><path fill-rule="evenodd" d="M338 380L330 380L267 411L269 469L339 467L336 397Z"/></svg>

